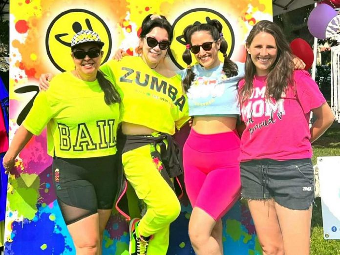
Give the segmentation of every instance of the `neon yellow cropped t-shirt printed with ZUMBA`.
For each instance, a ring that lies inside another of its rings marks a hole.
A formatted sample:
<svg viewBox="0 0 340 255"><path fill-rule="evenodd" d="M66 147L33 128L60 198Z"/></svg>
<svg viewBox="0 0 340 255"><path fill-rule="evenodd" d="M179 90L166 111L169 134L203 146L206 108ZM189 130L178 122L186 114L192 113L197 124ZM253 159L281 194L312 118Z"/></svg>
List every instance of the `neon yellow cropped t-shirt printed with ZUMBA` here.
<svg viewBox="0 0 340 255"><path fill-rule="evenodd" d="M181 77L166 78L144 63L140 57L110 60L101 70L122 90L122 122L138 124L174 134L189 120L187 97Z"/></svg>

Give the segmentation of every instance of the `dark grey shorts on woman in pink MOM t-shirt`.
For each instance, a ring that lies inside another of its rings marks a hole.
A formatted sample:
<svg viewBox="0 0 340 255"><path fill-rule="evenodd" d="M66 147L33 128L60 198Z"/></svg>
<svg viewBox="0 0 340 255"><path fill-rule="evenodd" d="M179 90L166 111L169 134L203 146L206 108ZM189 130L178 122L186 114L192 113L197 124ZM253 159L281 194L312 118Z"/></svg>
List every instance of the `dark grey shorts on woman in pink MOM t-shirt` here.
<svg viewBox="0 0 340 255"><path fill-rule="evenodd" d="M274 199L292 210L308 210L314 201L314 170L311 159L251 160L240 163L242 197Z"/></svg>

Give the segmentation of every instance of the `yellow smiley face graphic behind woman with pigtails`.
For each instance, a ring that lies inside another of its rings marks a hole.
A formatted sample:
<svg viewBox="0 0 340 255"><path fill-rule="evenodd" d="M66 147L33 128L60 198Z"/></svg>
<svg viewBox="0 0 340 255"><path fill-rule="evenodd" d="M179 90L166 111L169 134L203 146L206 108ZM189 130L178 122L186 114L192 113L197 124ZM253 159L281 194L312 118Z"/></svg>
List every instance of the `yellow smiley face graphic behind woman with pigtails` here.
<svg viewBox="0 0 340 255"><path fill-rule="evenodd" d="M234 46L235 46L235 36L232 25L230 22L220 13L207 8L196 8L191 9L189 11L181 14L174 22L173 22L173 42L171 43L170 50L170 58L172 62L180 69L183 69L187 66L185 62L182 60L182 54L186 49L185 41L183 38L183 30L190 24L200 24L207 23L210 20L218 20L221 22L223 29L223 37L228 43L227 54L230 57L233 54ZM192 53L191 53L192 54ZM219 54L220 60L223 62L222 54ZM195 58L192 54L192 64L196 64Z"/></svg>

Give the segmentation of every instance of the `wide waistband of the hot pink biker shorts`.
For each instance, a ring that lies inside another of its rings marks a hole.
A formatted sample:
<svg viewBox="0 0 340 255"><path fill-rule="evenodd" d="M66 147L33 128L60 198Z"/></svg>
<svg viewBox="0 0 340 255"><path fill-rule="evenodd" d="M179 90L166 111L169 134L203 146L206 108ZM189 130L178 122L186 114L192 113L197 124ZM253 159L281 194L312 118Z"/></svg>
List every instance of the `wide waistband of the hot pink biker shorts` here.
<svg viewBox="0 0 340 255"><path fill-rule="evenodd" d="M191 128L186 143L192 148L202 152L216 152L238 149L240 138L236 130L217 134L200 134Z"/></svg>

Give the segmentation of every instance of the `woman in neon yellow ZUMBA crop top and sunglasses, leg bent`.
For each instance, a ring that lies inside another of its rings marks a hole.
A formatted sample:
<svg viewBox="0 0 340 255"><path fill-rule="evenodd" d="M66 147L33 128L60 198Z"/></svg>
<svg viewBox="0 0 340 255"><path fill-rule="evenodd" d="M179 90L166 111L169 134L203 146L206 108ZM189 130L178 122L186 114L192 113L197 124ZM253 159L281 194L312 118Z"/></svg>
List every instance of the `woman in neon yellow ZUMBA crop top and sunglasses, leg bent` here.
<svg viewBox="0 0 340 255"><path fill-rule="evenodd" d="M164 16L148 15L142 22L137 48L140 56L111 60L101 67L121 90L124 173L147 205L145 215L130 223L131 255L145 255L147 250L151 255L165 255L170 223L180 213L170 178L182 169L171 135L189 117L181 77L162 66L171 40L169 21ZM42 76L42 88L47 85L45 80Z"/></svg>

